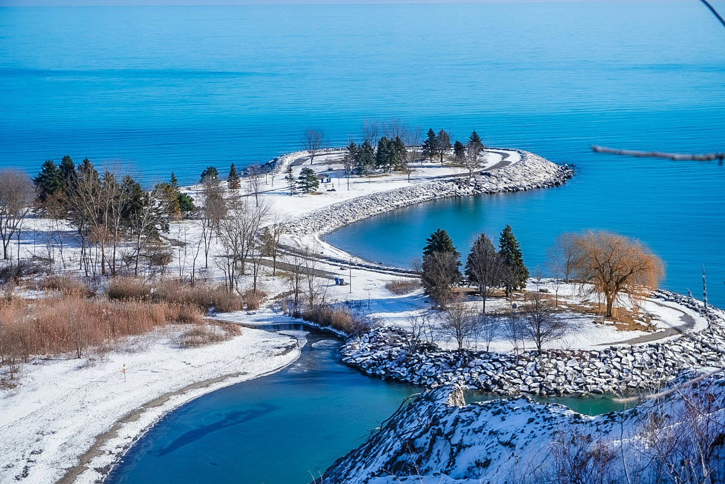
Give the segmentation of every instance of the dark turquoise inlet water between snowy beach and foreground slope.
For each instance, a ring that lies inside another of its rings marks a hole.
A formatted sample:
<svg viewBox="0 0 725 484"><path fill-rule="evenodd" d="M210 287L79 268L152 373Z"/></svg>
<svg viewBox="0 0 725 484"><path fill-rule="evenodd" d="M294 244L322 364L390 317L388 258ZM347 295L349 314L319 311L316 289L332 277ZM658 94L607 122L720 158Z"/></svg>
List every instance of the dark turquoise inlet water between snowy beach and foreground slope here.
<svg viewBox="0 0 725 484"><path fill-rule="evenodd" d="M309 483L419 391L343 366L339 339L305 329L297 362L182 406L130 448L107 482Z"/></svg>

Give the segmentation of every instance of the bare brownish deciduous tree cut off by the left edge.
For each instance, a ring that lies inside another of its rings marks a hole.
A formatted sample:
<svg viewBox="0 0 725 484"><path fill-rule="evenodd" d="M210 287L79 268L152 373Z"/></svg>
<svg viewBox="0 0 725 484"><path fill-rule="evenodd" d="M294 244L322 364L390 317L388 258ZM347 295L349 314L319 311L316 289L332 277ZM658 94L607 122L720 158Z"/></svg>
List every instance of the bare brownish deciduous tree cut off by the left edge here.
<svg viewBox="0 0 725 484"><path fill-rule="evenodd" d="M3 259L10 259L9 245L22 229L22 221L35 198L33 182L20 170L0 170L0 238Z"/></svg>

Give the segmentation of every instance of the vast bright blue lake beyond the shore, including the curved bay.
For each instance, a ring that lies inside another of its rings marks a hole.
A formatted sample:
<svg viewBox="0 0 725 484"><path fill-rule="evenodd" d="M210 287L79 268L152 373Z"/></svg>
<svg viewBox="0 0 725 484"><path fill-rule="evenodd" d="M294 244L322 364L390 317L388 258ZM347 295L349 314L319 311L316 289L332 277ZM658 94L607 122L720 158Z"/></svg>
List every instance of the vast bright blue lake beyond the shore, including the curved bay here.
<svg viewBox="0 0 725 484"><path fill-rule="evenodd" d="M405 265L439 226L465 246L508 222L534 267L563 230L606 228L663 256L676 291L699 293L705 264L725 305L725 167L589 151L725 149L725 34L697 1L0 7L0 33L2 166L36 172L70 154L191 183L209 164L300 149L311 127L330 146L359 138L364 119L464 139L476 128L581 172L330 240Z"/></svg>

